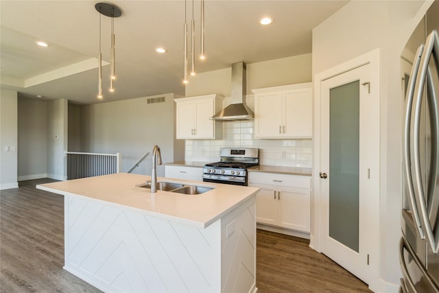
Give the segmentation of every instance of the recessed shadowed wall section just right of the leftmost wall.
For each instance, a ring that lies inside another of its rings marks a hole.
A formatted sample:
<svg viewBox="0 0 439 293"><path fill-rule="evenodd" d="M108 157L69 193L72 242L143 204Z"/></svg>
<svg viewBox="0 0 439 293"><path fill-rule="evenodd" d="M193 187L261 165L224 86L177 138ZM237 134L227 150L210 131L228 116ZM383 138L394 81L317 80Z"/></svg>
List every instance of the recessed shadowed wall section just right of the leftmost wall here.
<svg viewBox="0 0 439 293"><path fill-rule="evenodd" d="M19 97L19 181L47 177L47 101Z"/></svg>

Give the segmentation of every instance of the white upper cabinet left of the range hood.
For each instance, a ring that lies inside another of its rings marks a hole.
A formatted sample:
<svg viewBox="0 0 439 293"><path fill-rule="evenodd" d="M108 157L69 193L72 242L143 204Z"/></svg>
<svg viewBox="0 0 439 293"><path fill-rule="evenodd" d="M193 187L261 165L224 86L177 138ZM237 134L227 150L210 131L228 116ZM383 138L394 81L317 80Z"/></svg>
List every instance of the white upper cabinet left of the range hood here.
<svg viewBox="0 0 439 293"><path fill-rule="evenodd" d="M209 119L222 109L220 95L202 95L174 99L177 104L177 139L218 139L222 136L220 122Z"/></svg>

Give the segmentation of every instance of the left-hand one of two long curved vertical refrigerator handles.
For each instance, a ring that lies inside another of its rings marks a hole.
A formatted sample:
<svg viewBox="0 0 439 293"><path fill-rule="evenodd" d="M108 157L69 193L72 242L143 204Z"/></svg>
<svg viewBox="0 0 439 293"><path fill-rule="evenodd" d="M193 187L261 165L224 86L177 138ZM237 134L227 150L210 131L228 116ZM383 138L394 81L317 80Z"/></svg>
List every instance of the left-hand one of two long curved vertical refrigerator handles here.
<svg viewBox="0 0 439 293"><path fill-rule="evenodd" d="M410 122L412 121L412 105L414 97L414 88L416 82L416 76L418 74L420 58L423 54L424 45L420 45L416 51L416 58L413 62L412 72L410 73L409 84L407 89L407 97L405 99L407 105L405 106L405 125L404 125L404 160L405 160L405 176L407 181L407 191L409 196L410 209L412 210L412 218L416 224L416 230L418 231L418 236L421 239L425 239L423 228L420 224L420 217L418 206L416 204L414 187L413 187L413 176L412 167L410 165Z"/></svg>

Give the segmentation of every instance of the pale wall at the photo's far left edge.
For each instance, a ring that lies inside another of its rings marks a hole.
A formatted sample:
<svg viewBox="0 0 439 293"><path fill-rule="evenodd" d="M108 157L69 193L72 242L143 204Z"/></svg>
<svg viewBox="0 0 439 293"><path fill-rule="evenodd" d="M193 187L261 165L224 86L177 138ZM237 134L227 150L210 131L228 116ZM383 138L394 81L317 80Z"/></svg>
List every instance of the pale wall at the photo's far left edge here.
<svg viewBox="0 0 439 293"><path fill-rule="evenodd" d="M17 183L17 93L0 92L0 190L19 187Z"/></svg>

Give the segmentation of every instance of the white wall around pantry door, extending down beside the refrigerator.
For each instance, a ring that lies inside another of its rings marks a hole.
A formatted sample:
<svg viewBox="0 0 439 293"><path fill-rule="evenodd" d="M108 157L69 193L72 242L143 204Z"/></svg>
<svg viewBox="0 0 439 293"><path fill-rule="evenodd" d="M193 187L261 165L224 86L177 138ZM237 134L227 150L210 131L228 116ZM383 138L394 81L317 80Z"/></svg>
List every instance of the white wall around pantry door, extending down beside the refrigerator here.
<svg viewBox="0 0 439 293"><path fill-rule="evenodd" d="M425 1L351 1L313 30L313 75L381 49L381 117L377 117L381 119L379 292L396 290L401 277L400 56L429 5Z"/></svg>

